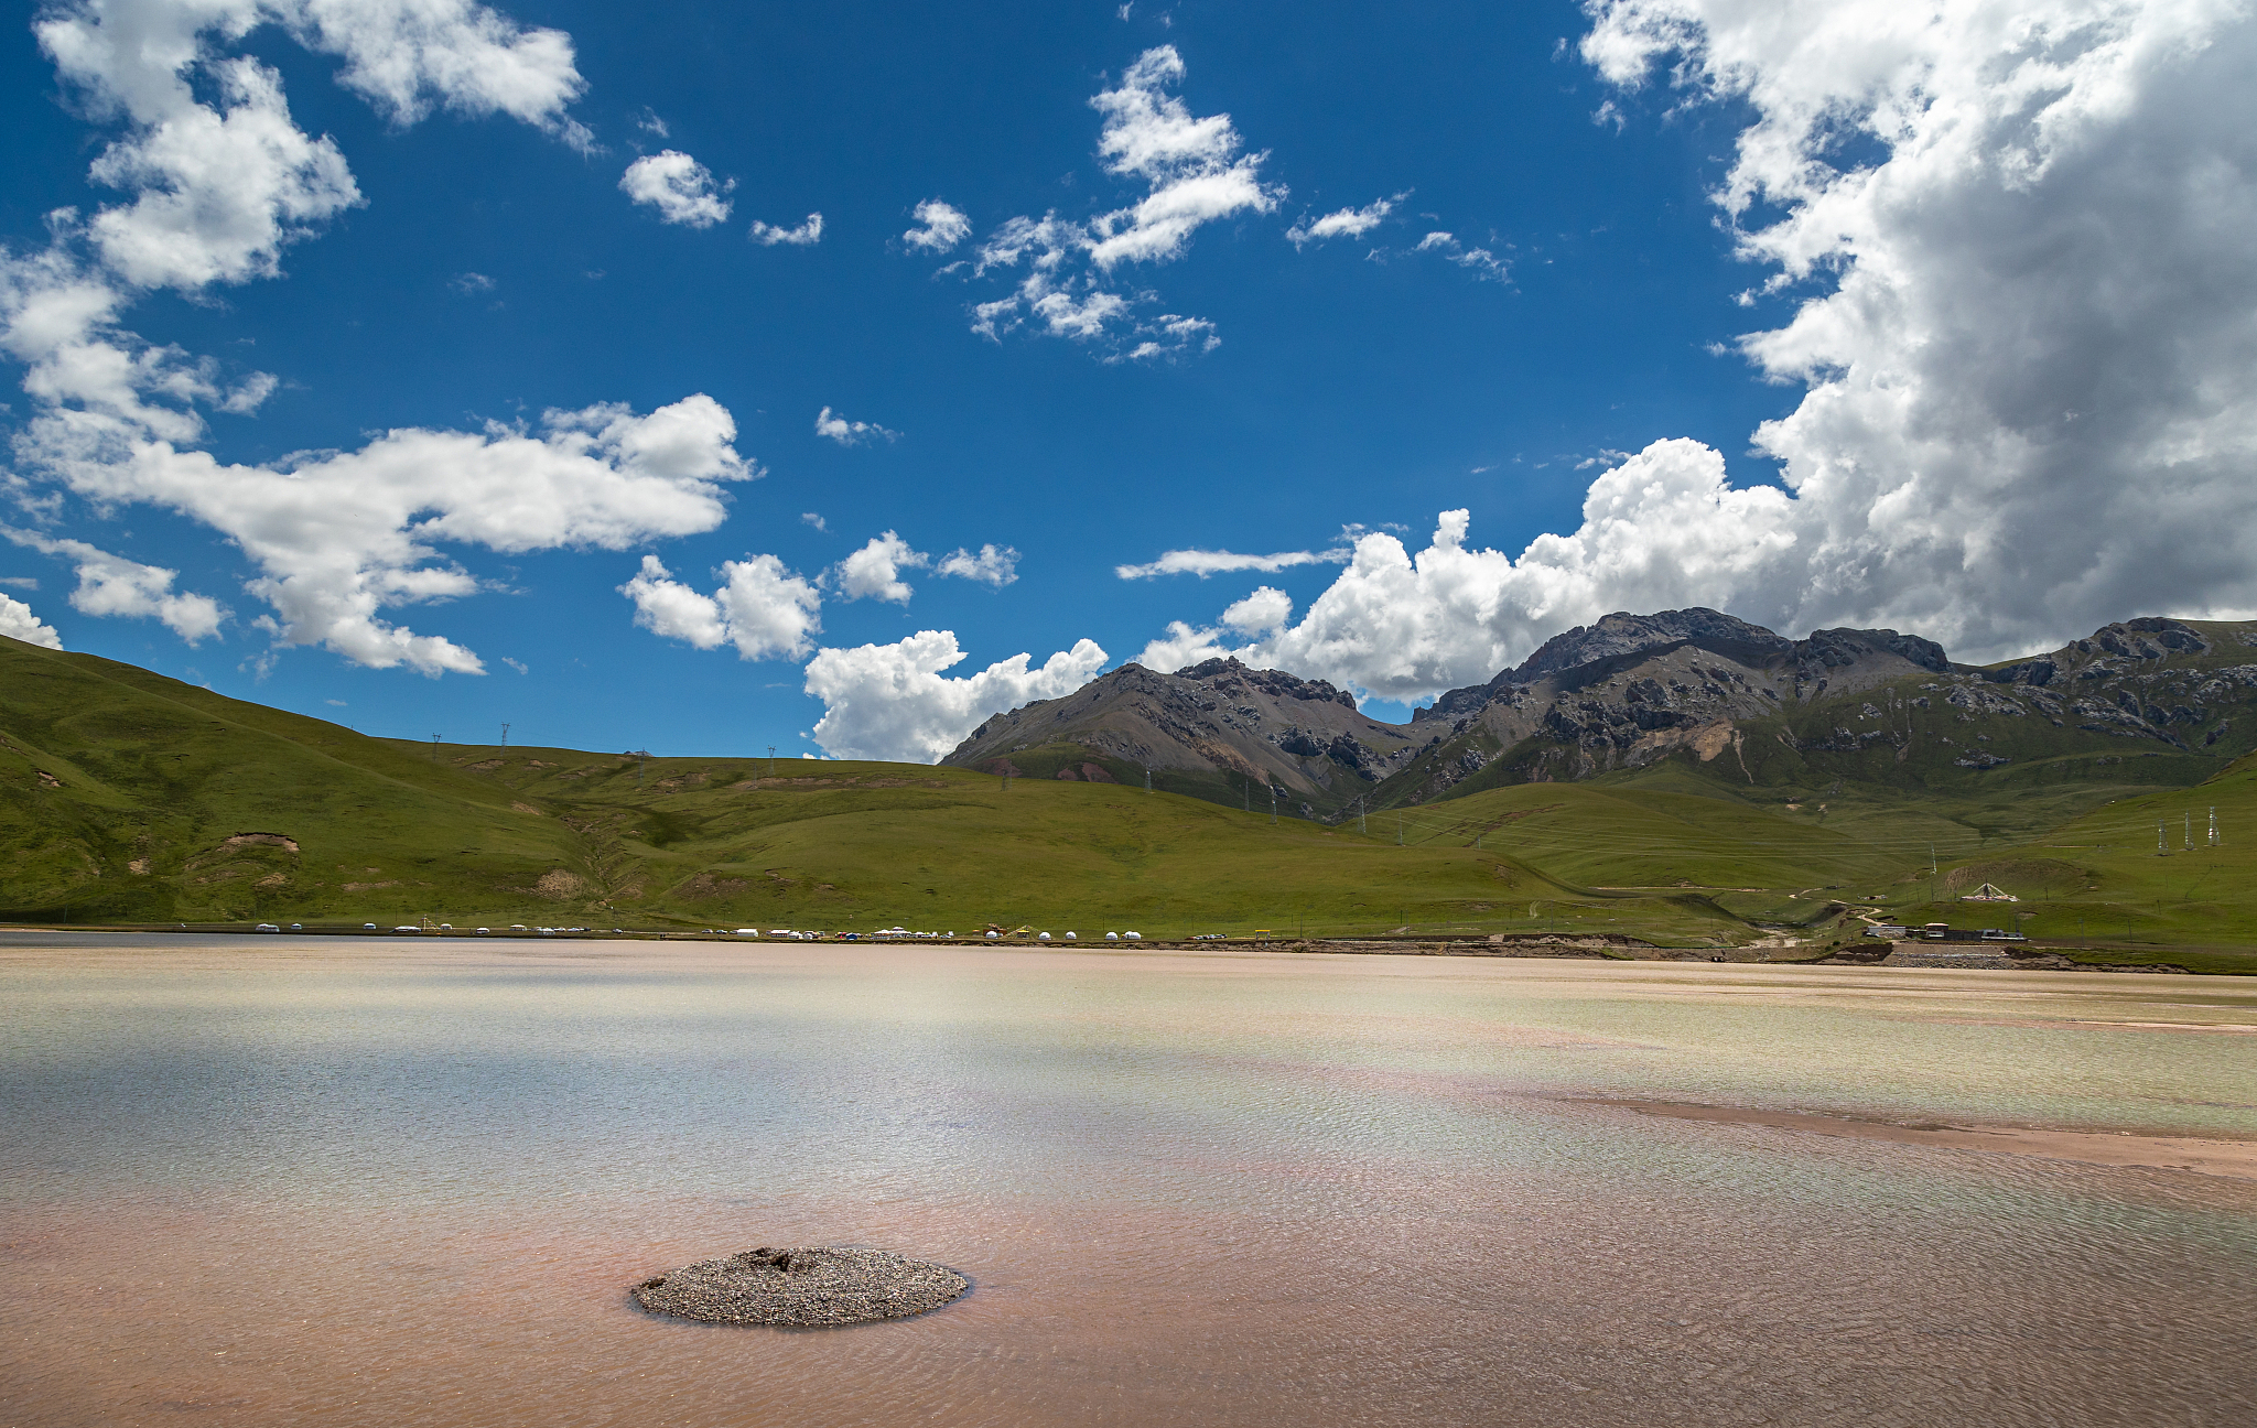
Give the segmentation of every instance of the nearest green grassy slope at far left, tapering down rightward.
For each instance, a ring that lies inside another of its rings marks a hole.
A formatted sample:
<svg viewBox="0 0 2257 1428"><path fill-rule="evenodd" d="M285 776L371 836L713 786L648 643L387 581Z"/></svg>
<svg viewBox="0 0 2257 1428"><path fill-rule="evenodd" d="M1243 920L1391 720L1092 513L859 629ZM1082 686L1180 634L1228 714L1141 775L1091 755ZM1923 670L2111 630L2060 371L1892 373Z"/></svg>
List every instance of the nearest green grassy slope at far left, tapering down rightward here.
<svg viewBox="0 0 2257 1428"><path fill-rule="evenodd" d="M11 916L253 916L345 882L397 893L508 878L564 844L492 783L350 729L124 663L0 645ZM300 850L228 846L244 832Z"/></svg>

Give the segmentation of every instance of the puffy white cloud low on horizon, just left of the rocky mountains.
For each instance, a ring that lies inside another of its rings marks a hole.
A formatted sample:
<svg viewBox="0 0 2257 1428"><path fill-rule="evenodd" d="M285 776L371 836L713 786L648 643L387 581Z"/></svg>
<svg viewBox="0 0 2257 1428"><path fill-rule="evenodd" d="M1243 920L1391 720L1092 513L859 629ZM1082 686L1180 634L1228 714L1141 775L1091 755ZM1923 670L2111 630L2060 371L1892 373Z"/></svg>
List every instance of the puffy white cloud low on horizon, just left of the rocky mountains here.
<svg viewBox="0 0 2257 1428"><path fill-rule="evenodd" d="M1056 699L1106 665L1095 641L1052 654L1000 659L977 675L948 677L964 663L950 629L921 629L892 645L819 650L806 668L806 690L824 702L815 742L833 758L937 763L989 715L1031 699Z"/></svg>

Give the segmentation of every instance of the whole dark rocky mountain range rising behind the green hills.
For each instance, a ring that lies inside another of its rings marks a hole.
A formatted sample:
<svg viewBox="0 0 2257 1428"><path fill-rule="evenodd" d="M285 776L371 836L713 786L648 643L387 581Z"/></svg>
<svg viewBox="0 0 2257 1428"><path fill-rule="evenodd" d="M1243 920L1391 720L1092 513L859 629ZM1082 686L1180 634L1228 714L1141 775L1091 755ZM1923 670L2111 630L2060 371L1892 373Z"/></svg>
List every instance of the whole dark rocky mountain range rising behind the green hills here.
<svg viewBox="0 0 2257 1428"><path fill-rule="evenodd" d="M2185 787L2257 747L2257 625L2137 618L2061 650L1955 663L1894 629L1785 638L1713 609L1611 614L1411 724L1235 659L1122 665L991 717L943 763L1151 781L1311 819L1677 765L1779 801L1844 783L1977 794ZM2131 760L2135 767L2126 767ZM2097 776L2097 778L2094 778Z"/></svg>

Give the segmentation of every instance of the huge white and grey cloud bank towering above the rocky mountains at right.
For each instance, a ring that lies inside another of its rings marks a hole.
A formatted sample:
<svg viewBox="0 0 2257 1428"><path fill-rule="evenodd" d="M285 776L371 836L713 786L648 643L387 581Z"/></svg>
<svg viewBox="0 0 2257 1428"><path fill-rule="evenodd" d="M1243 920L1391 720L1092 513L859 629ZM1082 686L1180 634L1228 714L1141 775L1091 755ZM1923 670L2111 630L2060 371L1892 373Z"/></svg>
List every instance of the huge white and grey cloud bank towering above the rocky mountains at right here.
<svg viewBox="0 0 2257 1428"><path fill-rule="evenodd" d="M1749 115L1715 201L1763 289L1797 298L1740 341L1803 386L1756 431L1781 485L1733 487L1720 453L1659 440L1591 483L1578 530L1519 555L1467 546L1463 512L1417 555L1361 537L1241 659L1415 697L1614 609L1882 625L1968 661L2135 614L2257 611L2248 7L1591 14L1582 56L1621 104L1666 74L1668 104Z"/></svg>

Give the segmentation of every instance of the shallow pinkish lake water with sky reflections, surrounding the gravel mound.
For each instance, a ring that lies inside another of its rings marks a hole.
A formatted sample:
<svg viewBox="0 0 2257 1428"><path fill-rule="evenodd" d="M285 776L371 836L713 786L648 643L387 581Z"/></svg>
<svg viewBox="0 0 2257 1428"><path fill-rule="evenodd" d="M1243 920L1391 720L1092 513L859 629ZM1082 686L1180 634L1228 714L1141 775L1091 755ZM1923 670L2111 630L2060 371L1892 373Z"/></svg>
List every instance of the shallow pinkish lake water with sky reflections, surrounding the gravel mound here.
<svg viewBox="0 0 2257 1428"><path fill-rule="evenodd" d="M11 1426L2257 1414L2257 1184L1580 1101L2246 1139L2223 979L56 941L0 947ZM977 1290L625 1295L756 1243Z"/></svg>

